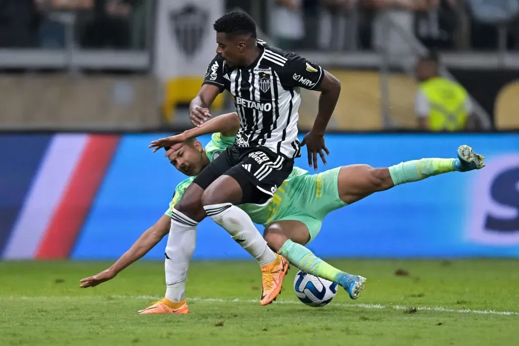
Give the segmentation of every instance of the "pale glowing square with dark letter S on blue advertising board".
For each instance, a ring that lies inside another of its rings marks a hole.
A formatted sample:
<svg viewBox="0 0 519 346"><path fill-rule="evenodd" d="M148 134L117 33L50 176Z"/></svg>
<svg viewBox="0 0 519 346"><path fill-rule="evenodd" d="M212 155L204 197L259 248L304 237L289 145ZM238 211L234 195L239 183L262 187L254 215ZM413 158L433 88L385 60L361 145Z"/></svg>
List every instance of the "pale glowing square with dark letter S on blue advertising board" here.
<svg viewBox="0 0 519 346"><path fill-rule="evenodd" d="M519 155L500 156L478 174L469 239L485 245L519 245Z"/></svg>

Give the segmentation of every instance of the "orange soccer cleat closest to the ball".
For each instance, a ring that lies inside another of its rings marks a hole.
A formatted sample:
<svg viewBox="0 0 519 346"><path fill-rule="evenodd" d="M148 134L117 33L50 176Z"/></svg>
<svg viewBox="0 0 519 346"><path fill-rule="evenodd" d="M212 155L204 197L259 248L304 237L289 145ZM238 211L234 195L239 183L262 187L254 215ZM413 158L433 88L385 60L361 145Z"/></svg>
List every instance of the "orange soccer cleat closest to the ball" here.
<svg viewBox="0 0 519 346"><path fill-rule="evenodd" d="M263 289L261 291L261 305L270 304L281 293L283 278L289 270L289 261L276 254L276 260L261 267L263 277Z"/></svg>

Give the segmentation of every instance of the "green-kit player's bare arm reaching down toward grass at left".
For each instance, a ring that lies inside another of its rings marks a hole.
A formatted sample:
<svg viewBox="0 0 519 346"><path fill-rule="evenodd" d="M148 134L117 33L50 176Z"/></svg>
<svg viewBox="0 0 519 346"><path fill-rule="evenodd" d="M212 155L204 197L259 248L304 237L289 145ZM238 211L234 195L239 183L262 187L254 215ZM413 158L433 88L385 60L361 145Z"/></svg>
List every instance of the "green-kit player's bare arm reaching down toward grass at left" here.
<svg viewBox="0 0 519 346"><path fill-rule="evenodd" d="M80 287L94 287L115 278L119 272L152 250L168 234L170 225L171 218L168 215L162 215L157 223L142 233L141 237L110 268L103 270L99 274L81 279Z"/></svg>

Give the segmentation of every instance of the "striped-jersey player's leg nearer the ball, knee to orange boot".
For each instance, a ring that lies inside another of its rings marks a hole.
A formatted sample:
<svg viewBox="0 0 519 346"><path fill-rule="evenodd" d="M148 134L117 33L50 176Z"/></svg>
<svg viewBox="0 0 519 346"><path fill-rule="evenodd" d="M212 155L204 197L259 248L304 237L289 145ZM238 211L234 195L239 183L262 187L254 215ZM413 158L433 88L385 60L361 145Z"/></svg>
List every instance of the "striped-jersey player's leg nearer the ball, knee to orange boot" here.
<svg viewBox="0 0 519 346"><path fill-rule="evenodd" d="M286 258L270 250L250 216L236 206L241 203L241 186L228 175L217 178L202 195L207 215L260 263L263 279L260 303L267 305L281 292L289 264Z"/></svg>

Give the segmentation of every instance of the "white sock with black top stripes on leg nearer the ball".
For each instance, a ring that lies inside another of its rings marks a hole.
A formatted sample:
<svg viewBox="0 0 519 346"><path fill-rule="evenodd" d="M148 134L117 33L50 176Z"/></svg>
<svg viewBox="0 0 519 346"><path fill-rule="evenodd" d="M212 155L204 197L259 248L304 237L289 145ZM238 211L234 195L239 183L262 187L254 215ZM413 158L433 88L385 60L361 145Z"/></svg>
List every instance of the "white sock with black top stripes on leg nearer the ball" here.
<svg viewBox="0 0 519 346"><path fill-rule="evenodd" d="M261 233L256 229L247 213L231 203L206 205L207 216L225 228L230 236L260 263L267 265L276 260Z"/></svg>

